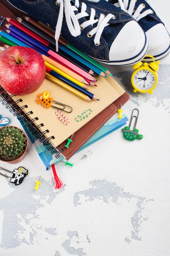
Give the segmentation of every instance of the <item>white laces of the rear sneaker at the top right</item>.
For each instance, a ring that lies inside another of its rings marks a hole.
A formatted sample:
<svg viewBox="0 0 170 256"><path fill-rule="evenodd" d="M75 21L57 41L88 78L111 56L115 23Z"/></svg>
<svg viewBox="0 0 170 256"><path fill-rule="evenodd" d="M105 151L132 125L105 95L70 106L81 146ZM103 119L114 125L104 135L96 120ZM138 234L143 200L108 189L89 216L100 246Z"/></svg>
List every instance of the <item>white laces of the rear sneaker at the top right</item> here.
<svg viewBox="0 0 170 256"><path fill-rule="evenodd" d="M148 14L153 13L151 9L148 9L141 13L141 11L145 8L145 4L139 4L137 9L135 10L135 4L136 0L118 0L119 2L115 3L114 5L117 7L120 7L123 11L126 11L129 15L131 15L135 20L140 20L141 18L144 18ZM130 1L129 4L129 9L128 9L128 2Z"/></svg>

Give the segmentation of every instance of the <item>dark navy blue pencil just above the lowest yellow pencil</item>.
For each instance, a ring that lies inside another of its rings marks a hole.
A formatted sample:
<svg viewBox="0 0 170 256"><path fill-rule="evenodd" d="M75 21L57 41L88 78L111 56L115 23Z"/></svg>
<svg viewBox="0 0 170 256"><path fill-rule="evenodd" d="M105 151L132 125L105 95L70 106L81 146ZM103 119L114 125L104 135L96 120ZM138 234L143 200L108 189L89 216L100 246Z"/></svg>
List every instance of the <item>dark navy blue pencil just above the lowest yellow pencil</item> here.
<svg viewBox="0 0 170 256"><path fill-rule="evenodd" d="M55 72L53 70L50 70L48 67L46 68L46 72L51 74L55 78L59 79L60 81L70 85L71 87L73 87L74 89L78 90L79 92L82 92L83 94L88 96L90 99L94 99L94 100L98 100L99 101L99 99L92 92L89 92L89 91L85 90L84 88L80 87L79 85L76 85L75 83L72 83L70 80L64 78L60 74L57 74L57 72Z"/></svg>

